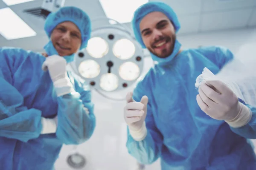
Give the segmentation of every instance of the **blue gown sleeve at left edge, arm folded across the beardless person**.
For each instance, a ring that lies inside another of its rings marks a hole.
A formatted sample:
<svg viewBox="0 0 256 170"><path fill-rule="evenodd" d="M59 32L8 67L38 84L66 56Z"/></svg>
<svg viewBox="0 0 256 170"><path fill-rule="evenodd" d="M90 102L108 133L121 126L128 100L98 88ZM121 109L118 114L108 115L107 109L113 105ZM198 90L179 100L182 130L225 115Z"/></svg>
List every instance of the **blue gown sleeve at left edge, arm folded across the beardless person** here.
<svg viewBox="0 0 256 170"><path fill-rule="evenodd" d="M26 55L22 49L0 48L0 136L22 142L38 138L42 130L41 111L24 106L23 96L12 86Z"/></svg>

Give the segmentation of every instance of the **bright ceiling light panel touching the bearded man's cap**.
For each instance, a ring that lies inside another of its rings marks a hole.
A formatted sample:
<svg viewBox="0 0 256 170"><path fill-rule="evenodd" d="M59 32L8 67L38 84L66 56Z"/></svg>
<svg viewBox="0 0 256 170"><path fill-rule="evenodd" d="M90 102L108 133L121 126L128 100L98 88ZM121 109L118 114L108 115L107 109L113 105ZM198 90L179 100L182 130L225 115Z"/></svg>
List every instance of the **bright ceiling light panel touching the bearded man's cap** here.
<svg viewBox="0 0 256 170"><path fill-rule="evenodd" d="M108 18L119 23L130 23L134 11L148 0L99 0L99 2Z"/></svg>

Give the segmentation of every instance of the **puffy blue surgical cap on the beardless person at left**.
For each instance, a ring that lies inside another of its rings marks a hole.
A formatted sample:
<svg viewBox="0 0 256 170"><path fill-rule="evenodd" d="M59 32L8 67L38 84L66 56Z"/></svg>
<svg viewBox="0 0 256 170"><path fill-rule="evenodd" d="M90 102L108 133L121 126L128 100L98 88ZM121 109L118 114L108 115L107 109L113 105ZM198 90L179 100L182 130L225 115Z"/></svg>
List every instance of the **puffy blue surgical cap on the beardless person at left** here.
<svg viewBox="0 0 256 170"><path fill-rule="evenodd" d="M79 28L82 39L80 49L85 48L91 34L90 18L84 11L73 6L60 8L58 11L48 15L44 25L44 30L48 37L51 37L53 29L58 24L65 21L70 21Z"/></svg>

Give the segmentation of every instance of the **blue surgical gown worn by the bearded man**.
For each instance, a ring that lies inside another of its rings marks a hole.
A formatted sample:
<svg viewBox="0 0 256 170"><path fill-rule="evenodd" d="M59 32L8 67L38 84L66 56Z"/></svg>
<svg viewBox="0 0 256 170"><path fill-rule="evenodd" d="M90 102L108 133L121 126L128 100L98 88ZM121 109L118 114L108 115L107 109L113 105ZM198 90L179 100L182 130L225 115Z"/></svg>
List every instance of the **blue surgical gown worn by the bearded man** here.
<svg viewBox="0 0 256 170"><path fill-rule="evenodd" d="M256 169L250 142L224 121L207 116L196 102L195 80L203 68L216 74L231 59L228 49L210 46L184 50L169 65L154 65L133 96L137 102L148 96L148 133L137 142L128 131L129 153L143 164L161 158L162 170Z"/></svg>

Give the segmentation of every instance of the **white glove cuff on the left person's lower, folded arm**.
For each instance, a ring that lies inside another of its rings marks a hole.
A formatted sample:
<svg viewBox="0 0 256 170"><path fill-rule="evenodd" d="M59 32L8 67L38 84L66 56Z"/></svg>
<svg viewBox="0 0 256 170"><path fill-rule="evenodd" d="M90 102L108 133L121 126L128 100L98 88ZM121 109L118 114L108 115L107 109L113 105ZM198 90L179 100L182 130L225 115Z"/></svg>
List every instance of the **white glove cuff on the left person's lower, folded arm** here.
<svg viewBox="0 0 256 170"><path fill-rule="evenodd" d="M58 126L58 117L55 116L53 119L47 119L41 117L42 131L41 134L56 133Z"/></svg>

